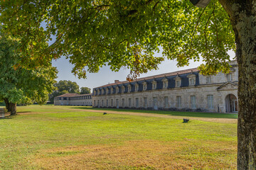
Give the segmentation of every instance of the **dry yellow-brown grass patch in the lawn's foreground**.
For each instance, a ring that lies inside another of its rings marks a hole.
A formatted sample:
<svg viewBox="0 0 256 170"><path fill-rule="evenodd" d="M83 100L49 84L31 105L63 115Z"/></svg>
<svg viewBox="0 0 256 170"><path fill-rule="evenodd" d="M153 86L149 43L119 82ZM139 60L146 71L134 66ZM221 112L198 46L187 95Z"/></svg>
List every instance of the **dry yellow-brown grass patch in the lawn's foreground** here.
<svg viewBox="0 0 256 170"><path fill-rule="evenodd" d="M58 147L33 158L40 169L235 169L233 142L127 141Z"/></svg>

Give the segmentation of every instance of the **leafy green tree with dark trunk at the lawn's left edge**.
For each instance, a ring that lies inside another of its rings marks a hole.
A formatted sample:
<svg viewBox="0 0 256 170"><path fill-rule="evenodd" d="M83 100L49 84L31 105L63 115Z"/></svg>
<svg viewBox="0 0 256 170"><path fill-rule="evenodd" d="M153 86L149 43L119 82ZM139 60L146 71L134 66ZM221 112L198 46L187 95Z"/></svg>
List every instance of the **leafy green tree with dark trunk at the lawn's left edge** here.
<svg viewBox="0 0 256 170"><path fill-rule="evenodd" d="M18 44L18 40L0 32L0 101L5 102L11 115L16 115L17 103L45 103L48 94L54 89L57 72L55 67L17 67L21 58L21 54L17 52Z"/></svg>

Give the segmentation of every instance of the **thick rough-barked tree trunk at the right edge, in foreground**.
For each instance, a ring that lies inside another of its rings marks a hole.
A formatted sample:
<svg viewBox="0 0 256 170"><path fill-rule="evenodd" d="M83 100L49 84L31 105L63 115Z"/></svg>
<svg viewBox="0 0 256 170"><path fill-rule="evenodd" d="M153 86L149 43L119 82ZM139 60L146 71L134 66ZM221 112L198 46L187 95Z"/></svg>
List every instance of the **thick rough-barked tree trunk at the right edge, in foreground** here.
<svg viewBox="0 0 256 170"><path fill-rule="evenodd" d="M256 0L219 0L237 45L238 169L256 169Z"/></svg>

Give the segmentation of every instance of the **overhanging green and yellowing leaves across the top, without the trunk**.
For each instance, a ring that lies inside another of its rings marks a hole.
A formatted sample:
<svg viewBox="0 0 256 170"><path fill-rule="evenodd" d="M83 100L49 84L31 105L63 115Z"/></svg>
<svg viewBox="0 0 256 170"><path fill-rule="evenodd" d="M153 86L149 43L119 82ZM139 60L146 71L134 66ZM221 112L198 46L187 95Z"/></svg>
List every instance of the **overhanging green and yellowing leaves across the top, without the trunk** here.
<svg viewBox="0 0 256 170"><path fill-rule="evenodd" d="M31 56L23 64L65 55L80 78L107 64L130 69L127 78L135 79L164 57L183 66L201 56L204 74L228 72L227 52L235 50L228 15L214 0L204 9L185 0L1 1L0 8L5 31L23 35L21 50ZM51 38L52 45L42 45ZM163 57L154 57L159 47Z"/></svg>

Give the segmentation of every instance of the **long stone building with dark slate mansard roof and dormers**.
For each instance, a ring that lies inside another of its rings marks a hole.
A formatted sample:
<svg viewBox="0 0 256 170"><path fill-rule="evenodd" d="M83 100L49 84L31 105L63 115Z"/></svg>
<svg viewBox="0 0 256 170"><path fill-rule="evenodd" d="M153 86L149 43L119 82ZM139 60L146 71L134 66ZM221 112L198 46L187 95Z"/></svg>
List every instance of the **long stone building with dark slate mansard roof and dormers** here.
<svg viewBox="0 0 256 170"><path fill-rule="evenodd" d="M203 76L198 69L159 74L136 81L115 81L93 89L92 106L171 111L238 111L238 64L229 74Z"/></svg>

